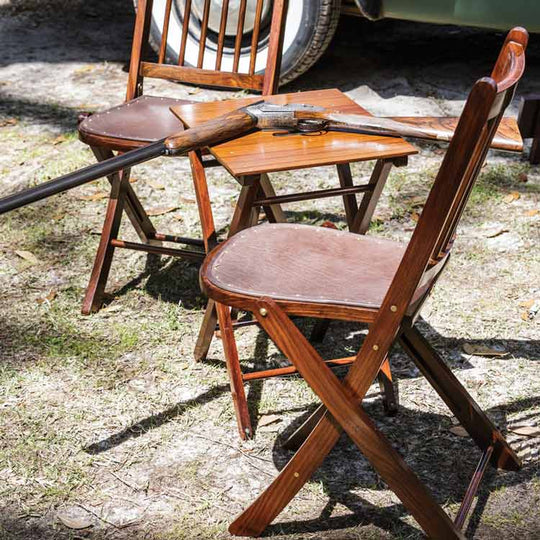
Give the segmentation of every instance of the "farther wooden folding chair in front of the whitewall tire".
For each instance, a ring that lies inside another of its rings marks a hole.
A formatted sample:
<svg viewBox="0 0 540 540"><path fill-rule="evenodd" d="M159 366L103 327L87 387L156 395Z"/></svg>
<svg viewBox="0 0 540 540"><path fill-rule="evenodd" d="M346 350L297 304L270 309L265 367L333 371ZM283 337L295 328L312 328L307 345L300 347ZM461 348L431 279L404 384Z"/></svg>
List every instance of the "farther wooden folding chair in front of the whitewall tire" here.
<svg viewBox="0 0 540 540"><path fill-rule="evenodd" d="M137 3L137 16L135 32L131 50L131 62L127 86L126 102L118 107L95 113L82 114L79 123L80 139L90 145L98 161L112 157L114 152L125 152L144 146L164 138L183 129L183 124L171 112L170 107L189 100L171 99L143 95L143 82L146 78L167 79L205 86L245 89L270 95L277 91L279 83L279 70L281 62L281 49L285 31L285 18L288 0L274 0L272 18L269 27L266 68L264 74L259 74L261 66L258 56L259 35L263 31L263 0L257 0L255 9L254 27L251 36L251 53L248 65L240 62L242 48L243 25L246 15L246 2L241 0L239 15L235 25L236 37L228 35L229 0L224 0L220 13L220 25L217 36L216 50L207 47L209 43L209 17L211 15L211 0L205 0L202 20L198 36L198 62L196 67L185 65L186 47L193 47L188 43L188 29L192 13L191 0L183 2L183 32L179 46L178 57L168 58L168 33L171 23L171 11L177 9L172 0L153 2L153 0L139 0ZM162 40L157 61L145 61L146 49L152 19L154 4L161 9L163 18ZM262 34L261 34L262 35ZM233 49L232 65L225 66L223 61L224 49ZM264 55L262 56L264 62ZM173 62L173 63L171 63ZM223 64L223 65L222 65ZM227 71L224 71L224 70ZM156 231L141 201L129 183L129 170L109 177L111 194L107 207L105 222L101 233L101 240L96 254L94 267L86 289L82 312L89 314L98 311L104 299L105 286L116 248L127 248L158 255L173 255L192 260L202 260L204 255L216 245L216 232L214 228L212 211L206 178L205 167L215 166L215 160L203 158L201 152L191 152L191 169L203 232L202 239L191 239L181 236L162 234ZM270 189L267 183L265 186ZM273 192L268 191L268 195ZM118 231L123 212L128 215L141 242L125 242L118 239ZM184 244L190 249L164 247L163 242ZM193 249L195 248L195 249Z"/></svg>

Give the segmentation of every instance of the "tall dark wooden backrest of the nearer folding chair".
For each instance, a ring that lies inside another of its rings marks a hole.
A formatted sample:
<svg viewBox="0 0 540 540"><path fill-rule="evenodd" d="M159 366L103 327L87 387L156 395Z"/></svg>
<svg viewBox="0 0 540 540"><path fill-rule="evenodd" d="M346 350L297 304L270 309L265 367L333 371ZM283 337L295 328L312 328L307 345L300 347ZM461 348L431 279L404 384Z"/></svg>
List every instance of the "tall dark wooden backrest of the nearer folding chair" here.
<svg viewBox="0 0 540 540"><path fill-rule="evenodd" d="M444 266L474 181L523 74L527 40L523 28L511 30L491 77L474 84L383 309L386 304L409 309Z"/></svg>

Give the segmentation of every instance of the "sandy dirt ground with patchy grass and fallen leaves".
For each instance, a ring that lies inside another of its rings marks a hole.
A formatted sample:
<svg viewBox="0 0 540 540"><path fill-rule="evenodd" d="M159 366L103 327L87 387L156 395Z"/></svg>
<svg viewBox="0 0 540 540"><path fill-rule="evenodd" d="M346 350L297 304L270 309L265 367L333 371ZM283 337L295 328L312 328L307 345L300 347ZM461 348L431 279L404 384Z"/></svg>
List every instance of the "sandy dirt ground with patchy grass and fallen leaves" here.
<svg viewBox="0 0 540 540"><path fill-rule="evenodd" d="M119 104L133 12L128 0L0 0L0 196L93 162L76 116ZM283 91L337 87L374 114L457 115L489 72L501 33L343 19L321 61ZM149 82L147 93L197 100L238 93ZM540 93L533 36L519 96ZM395 169L369 234L406 239L444 147L420 145ZM372 164L353 166L357 180ZM159 230L199 232L185 159L137 167ZM332 168L272 176L279 192L336 186ZM238 185L209 174L225 235ZM254 440L237 436L221 343L192 361L205 299L198 268L117 254L112 301L80 315L107 182L0 220L0 538L225 539L227 526L290 453L286 436L317 406L297 378L248 386ZM466 524L468 538L540 537L540 171L523 156L492 153L460 227L453 260L420 327L508 435L519 472L490 470ZM287 206L294 221L345 228L339 200ZM158 212L159 213L159 212ZM126 221L122 237L135 239ZM312 321L300 323L308 333ZM365 334L333 324L318 346L354 354ZM283 365L257 328L237 332L246 370ZM365 408L452 515L479 452L418 370L396 348L397 416L378 389ZM421 538L415 521L347 438L266 533L283 539Z"/></svg>

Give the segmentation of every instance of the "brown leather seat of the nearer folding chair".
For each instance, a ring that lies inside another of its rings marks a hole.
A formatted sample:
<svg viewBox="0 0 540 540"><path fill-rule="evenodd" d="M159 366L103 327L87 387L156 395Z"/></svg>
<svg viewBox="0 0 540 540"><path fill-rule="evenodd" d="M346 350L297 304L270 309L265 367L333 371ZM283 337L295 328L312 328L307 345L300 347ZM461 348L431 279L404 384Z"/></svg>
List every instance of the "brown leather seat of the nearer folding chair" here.
<svg viewBox="0 0 540 540"><path fill-rule="evenodd" d="M266 224L227 240L203 273L211 286L243 296L377 309L403 253L383 238Z"/></svg>

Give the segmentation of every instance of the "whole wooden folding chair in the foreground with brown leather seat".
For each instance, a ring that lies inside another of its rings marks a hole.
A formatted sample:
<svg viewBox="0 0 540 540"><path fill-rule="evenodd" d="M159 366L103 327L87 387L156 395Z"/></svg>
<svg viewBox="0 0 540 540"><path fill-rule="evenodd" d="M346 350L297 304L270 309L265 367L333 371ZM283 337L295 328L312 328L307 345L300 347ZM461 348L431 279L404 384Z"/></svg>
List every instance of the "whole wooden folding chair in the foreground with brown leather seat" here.
<svg viewBox="0 0 540 540"><path fill-rule="evenodd" d="M238 233L206 258L201 283L218 303L220 317L227 306L252 312L323 403L315 429L270 487L233 522L231 533L259 535L321 465L342 430L432 538L464 538L461 529L488 463L509 470L520 467L501 432L420 334L415 321L448 262L474 181L523 74L527 39L524 29L513 29L491 77L473 86L407 246L324 228L269 224ZM291 315L369 324L344 381L293 324ZM223 338L228 339L227 332ZM361 406L396 340L482 451L454 521ZM236 359L231 359L231 346L225 350L232 371ZM241 392L238 373L230 375L233 394Z"/></svg>

